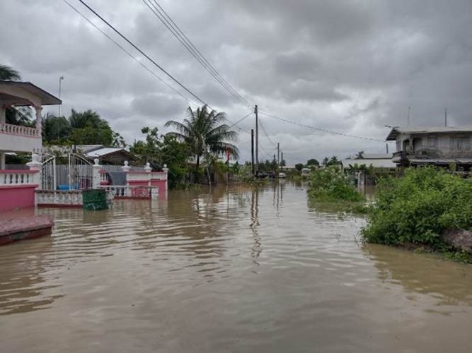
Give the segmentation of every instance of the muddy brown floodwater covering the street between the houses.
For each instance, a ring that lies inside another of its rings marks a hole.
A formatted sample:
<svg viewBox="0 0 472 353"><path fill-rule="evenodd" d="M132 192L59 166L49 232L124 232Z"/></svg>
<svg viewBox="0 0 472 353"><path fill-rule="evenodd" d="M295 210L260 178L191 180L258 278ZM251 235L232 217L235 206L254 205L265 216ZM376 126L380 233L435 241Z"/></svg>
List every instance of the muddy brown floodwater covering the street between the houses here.
<svg viewBox="0 0 472 353"><path fill-rule="evenodd" d="M41 209L0 247L1 352L471 352L472 266L359 243L304 186Z"/></svg>

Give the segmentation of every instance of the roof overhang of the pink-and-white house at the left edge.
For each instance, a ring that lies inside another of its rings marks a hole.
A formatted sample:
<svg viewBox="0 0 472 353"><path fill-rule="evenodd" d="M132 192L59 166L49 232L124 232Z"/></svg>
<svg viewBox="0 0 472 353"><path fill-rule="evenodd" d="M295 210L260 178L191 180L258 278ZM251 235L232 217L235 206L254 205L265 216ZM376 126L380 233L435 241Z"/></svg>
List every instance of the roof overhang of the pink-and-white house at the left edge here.
<svg viewBox="0 0 472 353"><path fill-rule="evenodd" d="M33 105L28 96L34 96L41 105L62 104L59 98L30 82L0 80L0 101L6 106Z"/></svg>

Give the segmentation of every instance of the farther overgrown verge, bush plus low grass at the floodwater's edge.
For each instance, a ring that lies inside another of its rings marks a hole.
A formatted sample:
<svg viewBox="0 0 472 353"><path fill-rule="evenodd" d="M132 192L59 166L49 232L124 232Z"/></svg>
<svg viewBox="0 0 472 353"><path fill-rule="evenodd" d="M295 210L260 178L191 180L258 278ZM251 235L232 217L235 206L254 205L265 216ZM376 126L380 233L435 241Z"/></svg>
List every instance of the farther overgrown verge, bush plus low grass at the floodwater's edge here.
<svg viewBox="0 0 472 353"><path fill-rule="evenodd" d="M365 198L337 166L315 169L309 176L309 202L323 208L364 213Z"/></svg>

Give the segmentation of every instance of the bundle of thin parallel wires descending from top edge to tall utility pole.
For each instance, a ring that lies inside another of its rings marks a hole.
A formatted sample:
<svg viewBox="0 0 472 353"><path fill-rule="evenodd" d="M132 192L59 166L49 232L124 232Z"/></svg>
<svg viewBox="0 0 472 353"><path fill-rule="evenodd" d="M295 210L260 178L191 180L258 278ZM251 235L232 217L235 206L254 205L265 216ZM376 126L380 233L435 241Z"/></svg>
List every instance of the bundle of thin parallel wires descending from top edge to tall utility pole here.
<svg viewBox="0 0 472 353"><path fill-rule="evenodd" d="M217 82L229 92L229 94L234 97L238 102L243 104L246 107L250 107L249 104L217 71L216 68L207 60L207 58L200 52L197 47L190 41L183 32L179 28L179 26L174 22L171 16L166 13L166 11L162 8L161 5L156 0L153 0L154 4L151 0L142 0L144 4L151 10L154 15L161 20L161 23L166 26L166 28L173 34L173 36L180 42L180 44L185 47L185 49L192 54L192 56L197 59L197 61L208 71L208 73L215 79Z"/></svg>

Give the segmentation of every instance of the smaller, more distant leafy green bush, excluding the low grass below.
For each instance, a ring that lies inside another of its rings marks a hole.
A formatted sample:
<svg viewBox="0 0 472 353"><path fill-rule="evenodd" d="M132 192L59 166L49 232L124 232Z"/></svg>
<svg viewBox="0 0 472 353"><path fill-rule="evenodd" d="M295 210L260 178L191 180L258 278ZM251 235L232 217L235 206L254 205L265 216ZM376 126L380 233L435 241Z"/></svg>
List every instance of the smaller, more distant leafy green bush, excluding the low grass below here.
<svg viewBox="0 0 472 353"><path fill-rule="evenodd" d="M364 201L338 167L316 169L309 177L309 197L316 201Z"/></svg>

